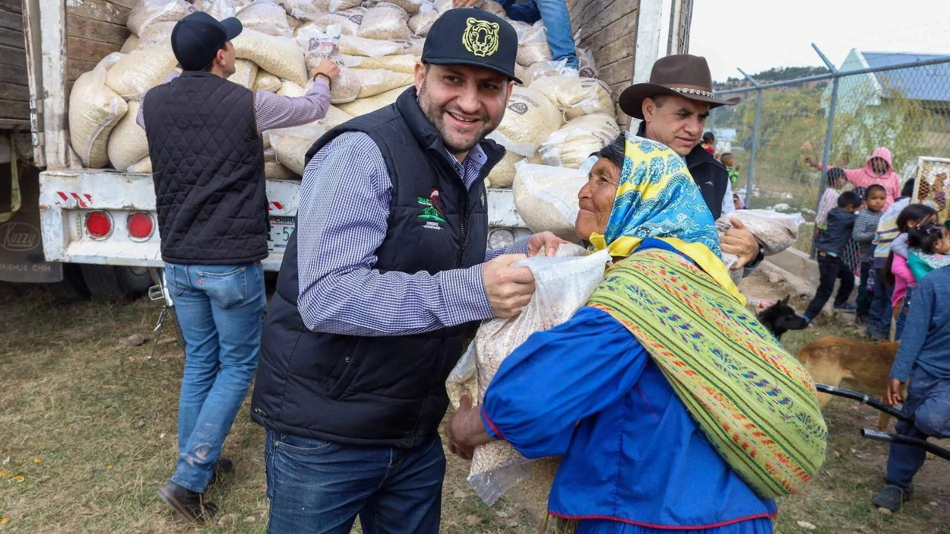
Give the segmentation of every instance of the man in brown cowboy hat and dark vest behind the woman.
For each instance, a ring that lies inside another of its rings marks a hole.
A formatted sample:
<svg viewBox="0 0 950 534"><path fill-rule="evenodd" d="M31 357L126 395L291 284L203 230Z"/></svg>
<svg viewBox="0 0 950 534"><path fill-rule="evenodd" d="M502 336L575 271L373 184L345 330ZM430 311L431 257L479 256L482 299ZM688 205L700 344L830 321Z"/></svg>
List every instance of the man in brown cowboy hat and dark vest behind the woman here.
<svg viewBox="0 0 950 534"><path fill-rule="evenodd" d="M736 105L739 100L716 98L706 58L690 54L656 60L649 83L629 86L620 93L620 109L643 121L637 135L666 144L686 160L713 219L723 215L724 202L731 205L729 172L700 142L710 109ZM736 219L732 224L721 238L722 251L739 258L732 269L758 265L765 250L742 221Z"/></svg>

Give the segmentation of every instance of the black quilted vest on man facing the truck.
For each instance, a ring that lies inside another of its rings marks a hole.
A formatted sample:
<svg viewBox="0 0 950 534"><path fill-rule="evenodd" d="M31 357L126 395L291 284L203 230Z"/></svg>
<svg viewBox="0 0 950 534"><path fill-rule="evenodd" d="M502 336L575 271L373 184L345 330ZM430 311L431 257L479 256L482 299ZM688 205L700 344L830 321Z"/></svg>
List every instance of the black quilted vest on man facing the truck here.
<svg viewBox="0 0 950 534"><path fill-rule="evenodd" d="M142 114L161 258L220 265L267 257L254 92L209 72L185 71L151 88Z"/></svg>

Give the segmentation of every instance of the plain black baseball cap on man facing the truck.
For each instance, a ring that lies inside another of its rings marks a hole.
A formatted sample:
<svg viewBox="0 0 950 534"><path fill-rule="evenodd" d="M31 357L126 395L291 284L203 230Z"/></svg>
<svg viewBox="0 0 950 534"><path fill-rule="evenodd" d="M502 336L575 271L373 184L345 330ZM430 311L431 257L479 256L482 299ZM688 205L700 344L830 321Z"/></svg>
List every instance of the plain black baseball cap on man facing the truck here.
<svg viewBox="0 0 950 534"><path fill-rule="evenodd" d="M243 29L234 17L218 21L204 11L195 11L172 29L172 51L182 70L200 70L215 59L224 44Z"/></svg>

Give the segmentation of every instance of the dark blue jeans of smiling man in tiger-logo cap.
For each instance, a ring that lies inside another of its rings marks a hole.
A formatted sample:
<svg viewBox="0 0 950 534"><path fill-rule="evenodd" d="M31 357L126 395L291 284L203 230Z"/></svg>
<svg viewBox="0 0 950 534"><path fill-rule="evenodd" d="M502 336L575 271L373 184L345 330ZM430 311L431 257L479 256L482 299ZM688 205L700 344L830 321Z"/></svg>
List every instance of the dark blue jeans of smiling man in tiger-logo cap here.
<svg viewBox="0 0 950 534"><path fill-rule="evenodd" d="M446 456L435 435L416 448L339 445L267 431L269 534L438 534Z"/></svg>

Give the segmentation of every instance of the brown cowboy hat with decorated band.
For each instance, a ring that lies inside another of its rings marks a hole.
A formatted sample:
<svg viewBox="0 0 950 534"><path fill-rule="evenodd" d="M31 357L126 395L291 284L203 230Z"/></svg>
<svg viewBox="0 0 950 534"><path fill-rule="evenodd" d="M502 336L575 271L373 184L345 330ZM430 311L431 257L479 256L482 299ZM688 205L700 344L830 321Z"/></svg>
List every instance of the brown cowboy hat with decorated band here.
<svg viewBox="0 0 950 534"><path fill-rule="evenodd" d="M676 54L656 60L650 72L650 83L635 84L620 93L620 109L635 119L643 119L643 99L656 95L676 95L699 102L708 102L710 109L720 105L736 105L742 100L716 98L712 94L712 74L706 58Z"/></svg>

